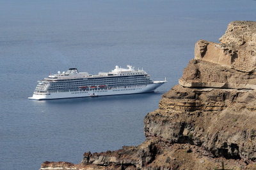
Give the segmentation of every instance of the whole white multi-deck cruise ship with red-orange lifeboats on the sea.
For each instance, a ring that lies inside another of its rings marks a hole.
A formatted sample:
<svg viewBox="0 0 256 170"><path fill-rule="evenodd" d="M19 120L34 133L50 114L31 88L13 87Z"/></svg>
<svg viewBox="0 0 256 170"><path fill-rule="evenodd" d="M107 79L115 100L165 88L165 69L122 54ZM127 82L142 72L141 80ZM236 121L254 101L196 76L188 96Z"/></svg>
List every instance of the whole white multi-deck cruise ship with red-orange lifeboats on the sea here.
<svg viewBox="0 0 256 170"><path fill-rule="evenodd" d="M165 82L166 78L164 81L152 81L143 69L134 69L129 65L127 69L116 66L109 73L100 72L97 75L79 73L76 68L70 68L67 72L58 71L58 74L39 80L33 97L28 98L46 100L138 94L153 92Z"/></svg>

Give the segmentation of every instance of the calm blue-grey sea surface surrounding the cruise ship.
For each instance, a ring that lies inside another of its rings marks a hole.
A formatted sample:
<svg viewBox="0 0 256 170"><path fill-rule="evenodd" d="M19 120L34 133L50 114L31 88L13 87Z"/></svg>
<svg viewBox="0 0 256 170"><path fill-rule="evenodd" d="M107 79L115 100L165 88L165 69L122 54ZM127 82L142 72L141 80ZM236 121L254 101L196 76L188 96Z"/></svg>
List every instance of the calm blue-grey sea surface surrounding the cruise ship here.
<svg viewBox="0 0 256 170"><path fill-rule="evenodd" d="M0 0L0 169L79 163L84 152L144 141L143 118L178 83L199 39L218 42L256 1ZM31 101L37 80L77 67L97 74L131 64L154 93Z"/></svg>

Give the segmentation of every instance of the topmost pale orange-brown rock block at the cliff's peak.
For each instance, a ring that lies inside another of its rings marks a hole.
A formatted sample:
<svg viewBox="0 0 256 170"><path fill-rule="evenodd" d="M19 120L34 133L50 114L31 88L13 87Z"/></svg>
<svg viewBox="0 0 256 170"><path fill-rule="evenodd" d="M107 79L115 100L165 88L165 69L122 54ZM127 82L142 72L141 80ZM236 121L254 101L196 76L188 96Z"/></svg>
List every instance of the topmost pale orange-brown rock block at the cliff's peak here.
<svg viewBox="0 0 256 170"><path fill-rule="evenodd" d="M251 72L256 67L256 24L235 21L228 25L221 43L200 40L195 45L195 59L205 60L237 71Z"/></svg>

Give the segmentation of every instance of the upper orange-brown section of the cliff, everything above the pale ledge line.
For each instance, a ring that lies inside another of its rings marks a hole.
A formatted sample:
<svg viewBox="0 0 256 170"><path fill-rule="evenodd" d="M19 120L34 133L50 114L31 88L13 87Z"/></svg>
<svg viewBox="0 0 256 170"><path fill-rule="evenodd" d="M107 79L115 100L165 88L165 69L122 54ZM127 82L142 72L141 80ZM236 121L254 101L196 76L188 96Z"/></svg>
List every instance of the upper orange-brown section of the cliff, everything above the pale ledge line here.
<svg viewBox="0 0 256 170"><path fill-rule="evenodd" d="M183 87L256 89L256 24L231 22L221 43L200 40L195 59L179 80Z"/></svg>

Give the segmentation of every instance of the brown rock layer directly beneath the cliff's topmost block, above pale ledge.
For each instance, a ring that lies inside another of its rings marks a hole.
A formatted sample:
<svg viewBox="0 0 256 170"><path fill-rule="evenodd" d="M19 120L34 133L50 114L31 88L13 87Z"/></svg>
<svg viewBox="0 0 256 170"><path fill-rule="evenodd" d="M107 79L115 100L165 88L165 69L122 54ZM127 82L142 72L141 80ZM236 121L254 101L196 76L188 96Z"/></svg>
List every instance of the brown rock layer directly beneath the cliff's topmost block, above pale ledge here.
<svg viewBox="0 0 256 170"><path fill-rule="evenodd" d="M190 60L179 80L183 87L207 87L221 89L256 89L256 74L244 73L229 67Z"/></svg>

